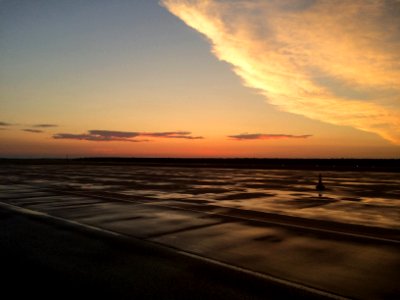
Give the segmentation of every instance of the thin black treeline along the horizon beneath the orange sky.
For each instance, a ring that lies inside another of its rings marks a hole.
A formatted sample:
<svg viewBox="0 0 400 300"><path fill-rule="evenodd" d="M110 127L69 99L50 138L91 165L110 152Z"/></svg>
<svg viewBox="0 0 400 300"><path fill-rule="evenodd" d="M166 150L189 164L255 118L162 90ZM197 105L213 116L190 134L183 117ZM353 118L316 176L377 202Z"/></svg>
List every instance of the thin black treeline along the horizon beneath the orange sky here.
<svg viewBox="0 0 400 300"><path fill-rule="evenodd" d="M245 169L299 169L400 172L400 159L281 159L281 158L122 158L74 159L0 158L0 164L142 165L158 167L204 167Z"/></svg>

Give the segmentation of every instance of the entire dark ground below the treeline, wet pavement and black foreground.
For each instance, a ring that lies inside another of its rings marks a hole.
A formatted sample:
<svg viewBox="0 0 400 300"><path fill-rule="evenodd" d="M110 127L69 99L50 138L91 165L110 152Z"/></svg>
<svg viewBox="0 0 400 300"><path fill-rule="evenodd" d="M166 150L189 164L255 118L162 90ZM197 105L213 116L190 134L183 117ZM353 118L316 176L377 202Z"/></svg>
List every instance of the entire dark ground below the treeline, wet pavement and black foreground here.
<svg viewBox="0 0 400 300"><path fill-rule="evenodd" d="M400 173L4 164L5 295L400 299Z"/></svg>

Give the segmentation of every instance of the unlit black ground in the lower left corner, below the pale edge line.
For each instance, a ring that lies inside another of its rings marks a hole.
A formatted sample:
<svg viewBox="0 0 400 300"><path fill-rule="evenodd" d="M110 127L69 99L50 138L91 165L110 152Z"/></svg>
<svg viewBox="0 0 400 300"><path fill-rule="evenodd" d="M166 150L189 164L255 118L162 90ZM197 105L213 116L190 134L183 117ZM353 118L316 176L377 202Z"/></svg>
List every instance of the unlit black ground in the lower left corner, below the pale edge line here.
<svg viewBox="0 0 400 300"><path fill-rule="evenodd" d="M2 294L60 299L317 299L140 241L0 208Z"/></svg>

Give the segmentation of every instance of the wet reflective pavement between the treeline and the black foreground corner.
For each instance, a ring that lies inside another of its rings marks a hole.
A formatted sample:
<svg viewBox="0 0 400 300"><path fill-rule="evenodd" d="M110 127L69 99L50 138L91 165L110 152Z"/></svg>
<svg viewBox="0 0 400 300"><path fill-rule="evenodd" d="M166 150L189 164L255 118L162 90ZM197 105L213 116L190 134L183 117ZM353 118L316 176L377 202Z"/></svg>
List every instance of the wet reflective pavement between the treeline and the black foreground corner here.
<svg viewBox="0 0 400 300"><path fill-rule="evenodd" d="M400 295L400 174L4 165L0 201L351 298Z"/></svg>

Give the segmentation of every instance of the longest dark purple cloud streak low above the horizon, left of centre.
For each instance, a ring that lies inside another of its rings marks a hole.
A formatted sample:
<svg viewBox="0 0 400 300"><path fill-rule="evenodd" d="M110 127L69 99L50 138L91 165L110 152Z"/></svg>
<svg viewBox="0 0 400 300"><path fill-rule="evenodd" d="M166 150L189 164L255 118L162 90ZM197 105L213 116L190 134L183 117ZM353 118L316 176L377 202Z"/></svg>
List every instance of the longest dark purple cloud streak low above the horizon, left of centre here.
<svg viewBox="0 0 400 300"><path fill-rule="evenodd" d="M189 131L169 131L169 132L130 132L112 130L89 130L84 134L57 133L54 139L72 139L81 141L96 142L148 142L148 139L135 139L137 137L169 138L169 139L202 139L201 136L191 136Z"/></svg>

